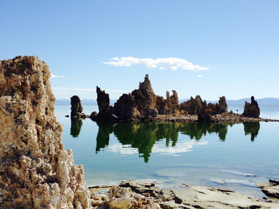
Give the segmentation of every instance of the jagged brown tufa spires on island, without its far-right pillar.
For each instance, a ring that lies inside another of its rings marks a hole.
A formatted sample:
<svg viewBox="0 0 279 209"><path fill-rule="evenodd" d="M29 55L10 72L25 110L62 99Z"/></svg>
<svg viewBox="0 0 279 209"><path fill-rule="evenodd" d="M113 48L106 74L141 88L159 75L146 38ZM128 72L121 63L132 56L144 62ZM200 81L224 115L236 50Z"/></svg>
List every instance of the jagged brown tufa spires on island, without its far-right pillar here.
<svg viewBox="0 0 279 209"><path fill-rule="evenodd" d="M140 82L139 89L132 93L123 94L114 106L110 105L110 98L99 87L96 89L99 113L93 112L92 120L154 120L159 115L198 115L200 121L210 121L213 115L228 113L226 97L219 98L219 103L206 104L199 95L194 99L179 104L177 92L166 92L166 99L155 95L148 75L144 82Z"/></svg>

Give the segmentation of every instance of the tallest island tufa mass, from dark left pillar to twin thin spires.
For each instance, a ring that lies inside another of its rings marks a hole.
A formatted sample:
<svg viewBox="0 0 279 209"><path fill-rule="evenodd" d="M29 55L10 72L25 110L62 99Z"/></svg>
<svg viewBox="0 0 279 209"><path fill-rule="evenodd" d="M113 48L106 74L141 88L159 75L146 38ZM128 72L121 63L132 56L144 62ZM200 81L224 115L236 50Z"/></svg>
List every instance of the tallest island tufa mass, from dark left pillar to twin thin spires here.
<svg viewBox="0 0 279 209"><path fill-rule="evenodd" d="M172 96L167 91L166 99L156 96L148 75L145 75L144 82L140 82L139 89L123 94L113 107L105 91L97 87L96 92L99 113L90 116L92 120L150 120L159 114L168 115L179 110L176 91L172 91Z"/></svg>

